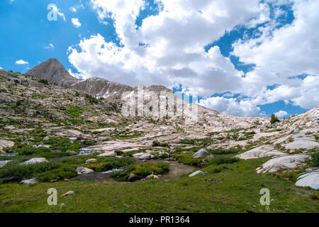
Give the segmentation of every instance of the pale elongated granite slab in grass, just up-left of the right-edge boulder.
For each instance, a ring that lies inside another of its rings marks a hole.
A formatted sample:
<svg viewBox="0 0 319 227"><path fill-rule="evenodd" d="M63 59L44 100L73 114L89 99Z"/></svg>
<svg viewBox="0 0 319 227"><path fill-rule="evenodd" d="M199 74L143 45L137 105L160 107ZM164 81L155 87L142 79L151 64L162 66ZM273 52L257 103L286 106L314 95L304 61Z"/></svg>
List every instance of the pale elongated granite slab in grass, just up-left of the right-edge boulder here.
<svg viewBox="0 0 319 227"><path fill-rule="evenodd" d="M308 158L308 155L288 155L284 157L276 157L268 162L265 162L262 165L262 168L257 170L257 173L294 169L303 165Z"/></svg>

